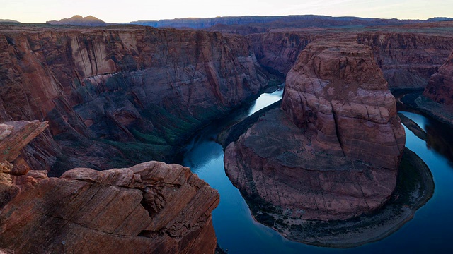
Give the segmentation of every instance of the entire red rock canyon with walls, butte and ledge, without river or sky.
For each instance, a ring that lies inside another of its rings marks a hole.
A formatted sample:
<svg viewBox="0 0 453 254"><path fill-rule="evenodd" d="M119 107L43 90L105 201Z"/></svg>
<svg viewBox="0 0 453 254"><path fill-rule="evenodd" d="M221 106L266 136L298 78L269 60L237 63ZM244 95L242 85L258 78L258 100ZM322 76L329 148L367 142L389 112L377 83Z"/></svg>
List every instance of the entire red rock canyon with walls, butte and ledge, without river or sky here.
<svg viewBox="0 0 453 254"><path fill-rule="evenodd" d="M212 253L217 191L164 162L284 81L281 104L227 139L226 171L255 218L306 241L287 229L392 202L402 157L423 162L403 153L390 90L425 89L419 108L432 99L448 109L452 22L304 19L211 20L206 30L0 25L0 246Z"/></svg>

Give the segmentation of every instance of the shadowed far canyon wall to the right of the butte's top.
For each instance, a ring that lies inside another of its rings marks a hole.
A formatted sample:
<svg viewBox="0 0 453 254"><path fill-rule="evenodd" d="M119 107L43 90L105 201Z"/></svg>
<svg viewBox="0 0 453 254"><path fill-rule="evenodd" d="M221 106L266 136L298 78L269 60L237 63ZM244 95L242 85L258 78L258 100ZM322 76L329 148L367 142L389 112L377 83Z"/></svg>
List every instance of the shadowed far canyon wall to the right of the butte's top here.
<svg viewBox="0 0 453 254"><path fill-rule="evenodd" d="M402 29L402 28L400 28ZM423 26L408 30L423 30ZM372 48L389 88L424 88L453 52L452 35L407 32L360 32L357 42Z"/></svg>

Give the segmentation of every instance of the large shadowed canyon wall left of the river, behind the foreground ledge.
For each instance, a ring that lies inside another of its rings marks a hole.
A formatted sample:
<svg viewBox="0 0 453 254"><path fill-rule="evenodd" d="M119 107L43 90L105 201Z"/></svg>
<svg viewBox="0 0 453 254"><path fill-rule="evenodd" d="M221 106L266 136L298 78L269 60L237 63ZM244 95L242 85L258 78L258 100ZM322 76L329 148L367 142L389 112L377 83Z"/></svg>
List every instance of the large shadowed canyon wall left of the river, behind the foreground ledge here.
<svg viewBox="0 0 453 254"><path fill-rule="evenodd" d="M49 121L24 156L57 175L168 160L268 82L245 38L214 32L5 26L0 48L0 120Z"/></svg>

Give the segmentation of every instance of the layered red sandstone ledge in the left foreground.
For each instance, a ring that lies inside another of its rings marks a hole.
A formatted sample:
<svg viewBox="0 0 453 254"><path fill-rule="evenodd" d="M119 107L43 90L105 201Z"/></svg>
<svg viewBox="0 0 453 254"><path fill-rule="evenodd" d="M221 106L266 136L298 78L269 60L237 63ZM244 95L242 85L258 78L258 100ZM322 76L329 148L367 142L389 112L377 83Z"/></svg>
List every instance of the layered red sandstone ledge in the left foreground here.
<svg viewBox="0 0 453 254"><path fill-rule="evenodd" d="M4 123L0 144L13 147L17 133L30 137L45 125ZM76 168L48 178L4 161L0 246L15 253L214 253L218 203L217 191L177 164Z"/></svg>

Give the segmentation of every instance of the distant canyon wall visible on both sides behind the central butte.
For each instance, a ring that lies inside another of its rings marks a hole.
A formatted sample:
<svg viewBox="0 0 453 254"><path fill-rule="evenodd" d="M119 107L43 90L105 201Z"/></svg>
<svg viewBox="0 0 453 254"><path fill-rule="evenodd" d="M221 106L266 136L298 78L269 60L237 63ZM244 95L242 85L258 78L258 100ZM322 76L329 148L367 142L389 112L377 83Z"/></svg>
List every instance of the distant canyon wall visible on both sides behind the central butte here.
<svg viewBox="0 0 453 254"><path fill-rule="evenodd" d="M401 30L402 28L399 28ZM420 28L422 30L423 28ZM283 30L283 29L282 29ZM327 38L331 31L270 31L247 35L258 62L269 71L286 76L299 53L315 38ZM423 88L453 52L453 35L425 32L338 32L356 37L372 49L374 61L384 73L390 89ZM325 39L324 39L325 40Z"/></svg>

